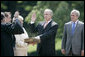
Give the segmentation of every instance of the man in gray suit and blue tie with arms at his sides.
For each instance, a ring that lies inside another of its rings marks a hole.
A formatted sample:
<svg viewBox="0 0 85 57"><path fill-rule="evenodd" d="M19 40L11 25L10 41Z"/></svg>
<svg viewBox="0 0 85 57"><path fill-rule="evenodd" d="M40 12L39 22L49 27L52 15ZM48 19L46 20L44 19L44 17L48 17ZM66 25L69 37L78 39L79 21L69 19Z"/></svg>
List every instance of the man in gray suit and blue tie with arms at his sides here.
<svg viewBox="0 0 85 57"><path fill-rule="evenodd" d="M71 21L64 26L61 52L67 56L84 56L84 23L78 20L78 10L72 10L70 15Z"/></svg>

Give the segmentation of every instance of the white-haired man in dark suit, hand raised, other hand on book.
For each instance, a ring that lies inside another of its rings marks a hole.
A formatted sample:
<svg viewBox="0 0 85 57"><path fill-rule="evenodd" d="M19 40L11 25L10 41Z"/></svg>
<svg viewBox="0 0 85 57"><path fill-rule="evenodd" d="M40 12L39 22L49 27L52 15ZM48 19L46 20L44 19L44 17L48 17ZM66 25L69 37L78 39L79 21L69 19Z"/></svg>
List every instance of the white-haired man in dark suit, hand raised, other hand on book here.
<svg viewBox="0 0 85 57"><path fill-rule="evenodd" d="M44 11L44 22L40 22L35 27L36 14L34 13L31 18L32 32L38 32L38 36L34 37L39 39L40 43L37 46L37 52L40 56L54 56L55 55L55 37L58 29L58 24L52 20L53 12L50 9Z"/></svg>

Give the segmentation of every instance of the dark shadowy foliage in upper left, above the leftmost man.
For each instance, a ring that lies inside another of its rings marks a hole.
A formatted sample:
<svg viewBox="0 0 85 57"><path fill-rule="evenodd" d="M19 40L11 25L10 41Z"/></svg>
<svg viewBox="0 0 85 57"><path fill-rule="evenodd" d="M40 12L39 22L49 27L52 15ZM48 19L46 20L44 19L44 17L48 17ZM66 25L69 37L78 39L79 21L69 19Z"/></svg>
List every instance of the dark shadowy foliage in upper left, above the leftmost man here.
<svg viewBox="0 0 85 57"><path fill-rule="evenodd" d="M10 11L14 14L18 10L25 18L36 3L37 1L1 1L1 11Z"/></svg>

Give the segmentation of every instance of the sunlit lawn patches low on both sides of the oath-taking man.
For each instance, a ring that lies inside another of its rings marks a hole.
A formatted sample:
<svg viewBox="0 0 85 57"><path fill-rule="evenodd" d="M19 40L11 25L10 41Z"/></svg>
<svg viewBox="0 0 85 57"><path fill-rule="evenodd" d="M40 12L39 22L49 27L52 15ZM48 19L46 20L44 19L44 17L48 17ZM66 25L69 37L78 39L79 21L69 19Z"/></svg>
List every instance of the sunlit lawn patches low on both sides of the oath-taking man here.
<svg viewBox="0 0 85 57"><path fill-rule="evenodd" d="M61 53L61 38L55 40L56 56L63 56ZM37 45L28 45L28 56L37 56L36 53Z"/></svg>

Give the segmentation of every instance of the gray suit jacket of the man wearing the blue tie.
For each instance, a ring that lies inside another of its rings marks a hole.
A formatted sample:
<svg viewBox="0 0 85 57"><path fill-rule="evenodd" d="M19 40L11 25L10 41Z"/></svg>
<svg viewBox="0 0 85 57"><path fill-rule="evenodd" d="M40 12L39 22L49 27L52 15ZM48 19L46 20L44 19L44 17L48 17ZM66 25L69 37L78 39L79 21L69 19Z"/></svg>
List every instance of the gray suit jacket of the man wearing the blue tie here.
<svg viewBox="0 0 85 57"><path fill-rule="evenodd" d="M68 22L64 26L62 49L66 50L66 55L69 54L70 48L72 48L73 54L80 55L81 50L84 50L84 23L78 20L74 35L71 31L72 23Z"/></svg>

